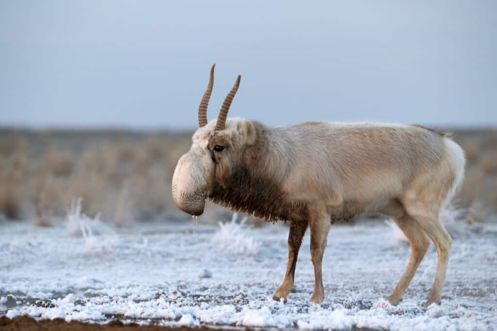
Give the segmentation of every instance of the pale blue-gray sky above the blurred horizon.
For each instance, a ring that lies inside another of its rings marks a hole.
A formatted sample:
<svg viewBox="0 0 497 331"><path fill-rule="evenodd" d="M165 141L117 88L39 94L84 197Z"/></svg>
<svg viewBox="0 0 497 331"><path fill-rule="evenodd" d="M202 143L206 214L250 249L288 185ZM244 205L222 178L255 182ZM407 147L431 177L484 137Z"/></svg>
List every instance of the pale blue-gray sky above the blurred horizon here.
<svg viewBox="0 0 497 331"><path fill-rule="evenodd" d="M497 126L497 1L0 2L0 125Z"/></svg>

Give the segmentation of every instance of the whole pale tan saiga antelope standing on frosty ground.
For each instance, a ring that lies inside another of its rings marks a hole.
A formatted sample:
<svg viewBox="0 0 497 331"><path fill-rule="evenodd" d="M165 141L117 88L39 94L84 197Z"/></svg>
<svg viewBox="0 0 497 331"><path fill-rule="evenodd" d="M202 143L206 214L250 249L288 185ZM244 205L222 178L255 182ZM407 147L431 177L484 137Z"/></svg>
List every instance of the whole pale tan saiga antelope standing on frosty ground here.
<svg viewBox="0 0 497 331"><path fill-rule="evenodd" d="M388 300L398 303L429 246L438 265L425 305L440 303L451 238L440 210L464 177L464 152L444 133L416 125L306 122L267 127L227 119L240 84L207 122L214 82L211 68L198 109L199 129L172 178L176 205L203 213L205 200L266 220L290 221L288 265L275 299L285 299L307 227L315 285L311 302L324 299L321 262L332 220L375 212L392 217L411 243L411 258Z"/></svg>

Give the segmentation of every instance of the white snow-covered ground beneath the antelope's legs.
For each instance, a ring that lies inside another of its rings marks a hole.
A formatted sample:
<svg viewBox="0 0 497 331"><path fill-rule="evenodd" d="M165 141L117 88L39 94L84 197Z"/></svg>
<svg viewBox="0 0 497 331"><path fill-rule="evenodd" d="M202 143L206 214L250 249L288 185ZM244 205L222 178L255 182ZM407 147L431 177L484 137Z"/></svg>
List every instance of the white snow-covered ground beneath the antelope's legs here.
<svg viewBox="0 0 497 331"><path fill-rule="evenodd" d="M199 221L123 229L91 219L50 228L0 222L0 316L192 327L497 329L495 227L454 240L442 304L423 309L436 268L433 245L404 301L391 306L384 298L410 249L384 221L331 226L321 306L307 302L314 286L309 234L295 290L283 304L272 294L286 268L287 227Z"/></svg>

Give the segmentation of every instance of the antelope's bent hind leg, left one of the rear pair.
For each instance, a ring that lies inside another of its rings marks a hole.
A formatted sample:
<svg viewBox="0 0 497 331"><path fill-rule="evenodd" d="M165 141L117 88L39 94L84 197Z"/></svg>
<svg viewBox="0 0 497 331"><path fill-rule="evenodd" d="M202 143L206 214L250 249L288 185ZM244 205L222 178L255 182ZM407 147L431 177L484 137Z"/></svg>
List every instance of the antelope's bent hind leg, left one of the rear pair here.
<svg viewBox="0 0 497 331"><path fill-rule="evenodd" d="M409 283L411 283L414 273L421 263L421 260L423 259L430 244L426 234L411 216L406 214L402 217L395 218L395 223L397 223L399 228L402 232L404 232L411 243L411 258L409 259L409 263L406 266L399 283L393 290L392 294L387 298L387 300L393 305L402 300L402 296L409 286Z"/></svg>

